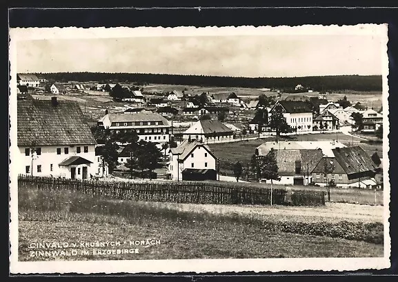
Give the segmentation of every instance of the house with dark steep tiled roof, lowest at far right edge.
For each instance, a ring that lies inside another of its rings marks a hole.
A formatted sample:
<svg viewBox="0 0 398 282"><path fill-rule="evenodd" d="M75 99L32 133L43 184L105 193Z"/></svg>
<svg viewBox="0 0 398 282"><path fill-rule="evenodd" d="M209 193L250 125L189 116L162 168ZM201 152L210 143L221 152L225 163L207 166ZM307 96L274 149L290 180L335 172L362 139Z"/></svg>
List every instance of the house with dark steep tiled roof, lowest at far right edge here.
<svg viewBox="0 0 398 282"><path fill-rule="evenodd" d="M333 181L339 187L375 188L376 165L360 146L332 149L334 157L324 157L312 170L312 180L318 185ZM325 166L330 172L324 175ZM370 186L370 187L369 187Z"/></svg>

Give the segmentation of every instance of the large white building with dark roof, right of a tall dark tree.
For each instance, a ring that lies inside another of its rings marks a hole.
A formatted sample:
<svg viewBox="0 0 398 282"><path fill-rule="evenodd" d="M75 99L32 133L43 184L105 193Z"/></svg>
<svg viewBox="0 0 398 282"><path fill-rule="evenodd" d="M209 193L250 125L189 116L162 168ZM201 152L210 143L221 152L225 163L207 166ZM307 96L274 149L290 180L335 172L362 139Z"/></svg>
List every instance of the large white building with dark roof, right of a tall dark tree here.
<svg viewBox="0 0 398 282"><path fill-rule="evenodd" d="M272 112L281 112L290 127L297 129L297 132L312 131L312 110L304 101L277 101L270 109L268 121Z"/></svg>

